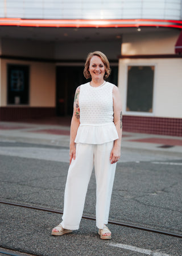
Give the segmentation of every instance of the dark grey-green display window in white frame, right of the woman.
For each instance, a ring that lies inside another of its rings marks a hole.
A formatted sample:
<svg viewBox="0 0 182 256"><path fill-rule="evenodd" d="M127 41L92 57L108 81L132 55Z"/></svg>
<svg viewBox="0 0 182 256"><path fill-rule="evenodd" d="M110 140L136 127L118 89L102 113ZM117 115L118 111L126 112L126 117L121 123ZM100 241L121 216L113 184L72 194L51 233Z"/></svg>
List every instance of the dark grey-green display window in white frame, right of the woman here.
<svg viewBox="0 0 182 256"><path fill-rule="evenodd" d="M128 66L126 111L153 112L155 66Z"/></svg>

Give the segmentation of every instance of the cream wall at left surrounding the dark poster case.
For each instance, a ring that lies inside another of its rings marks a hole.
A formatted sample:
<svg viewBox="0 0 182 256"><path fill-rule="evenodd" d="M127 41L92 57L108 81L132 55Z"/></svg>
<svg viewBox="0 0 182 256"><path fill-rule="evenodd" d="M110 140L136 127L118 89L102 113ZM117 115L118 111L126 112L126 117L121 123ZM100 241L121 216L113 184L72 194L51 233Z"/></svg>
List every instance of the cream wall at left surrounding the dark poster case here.
<svg viewBox="0 0 182 256"><path fill-rule="evenodd" d="M56 106L56 73L55 64L42 62L15 61L0 59L1 61L1 105L7 106L7 64L30 66L30 107ZM21 105L22 106L22 105Z"/></svg>

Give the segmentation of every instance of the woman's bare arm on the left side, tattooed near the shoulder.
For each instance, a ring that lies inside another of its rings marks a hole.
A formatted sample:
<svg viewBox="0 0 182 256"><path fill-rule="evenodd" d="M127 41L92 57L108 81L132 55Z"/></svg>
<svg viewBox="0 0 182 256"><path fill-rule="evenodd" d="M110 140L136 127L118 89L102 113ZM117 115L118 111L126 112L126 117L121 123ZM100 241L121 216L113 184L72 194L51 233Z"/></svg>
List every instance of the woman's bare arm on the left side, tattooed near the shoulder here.
<svg viewBox="0 0 182 256"><path fill-rule="evenodd" d="M69 164L71 164L72 159L75 160L75 156L76 156L75 138L76 138L78 127L80 125L79 94L80 94L80 86L78 86L76 89L75 99L73 104L73 117L71 122L70 143L69 143Z"/></svg>

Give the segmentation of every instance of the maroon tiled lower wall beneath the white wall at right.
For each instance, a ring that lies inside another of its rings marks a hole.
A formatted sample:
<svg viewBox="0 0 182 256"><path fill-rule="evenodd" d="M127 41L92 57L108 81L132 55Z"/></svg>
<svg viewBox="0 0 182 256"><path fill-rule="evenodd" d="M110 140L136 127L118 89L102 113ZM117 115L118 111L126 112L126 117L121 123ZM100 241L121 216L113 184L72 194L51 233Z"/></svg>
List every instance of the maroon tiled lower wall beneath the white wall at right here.
<svg viewBox="0 0 182 256"><path fill-rule="evenodd" d="M124 115L123 131L182 136L182 119Z"/></svg>

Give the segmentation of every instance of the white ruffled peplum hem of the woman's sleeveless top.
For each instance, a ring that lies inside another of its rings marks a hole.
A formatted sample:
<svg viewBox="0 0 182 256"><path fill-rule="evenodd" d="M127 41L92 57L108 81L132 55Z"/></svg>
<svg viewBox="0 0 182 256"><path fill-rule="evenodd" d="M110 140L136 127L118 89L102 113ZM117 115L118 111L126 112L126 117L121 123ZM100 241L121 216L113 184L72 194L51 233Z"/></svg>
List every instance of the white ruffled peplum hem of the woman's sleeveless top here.
<svg viewBox="0 0 182 256"><path fill-rule="evenodd" d="M113 122L102 124L80 124L75 143L102 144L118 139Z"/></svg>

